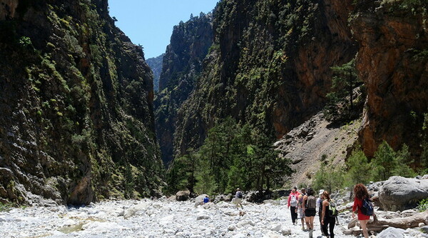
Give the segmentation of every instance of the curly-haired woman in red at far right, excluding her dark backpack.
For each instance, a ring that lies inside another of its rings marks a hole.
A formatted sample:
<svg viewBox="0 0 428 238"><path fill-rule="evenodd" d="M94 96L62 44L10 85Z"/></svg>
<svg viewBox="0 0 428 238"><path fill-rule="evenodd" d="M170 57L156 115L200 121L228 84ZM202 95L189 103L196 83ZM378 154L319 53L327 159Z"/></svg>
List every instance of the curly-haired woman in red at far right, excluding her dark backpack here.
<svg viewBox="0 0 428 238"><path fill-rule="evenodd" d="M365 199L370 199L369 192L367 192L367 187L364 184L357 184L354 187L354 206L352 207L352 218L355 217L355 211L358 212L358 222L360 222L360 227L362 229L362 234L365 238L369 238L369 232L367 232L367 222L369 222L370 216L367 216L362 213L362 203Z"/></svg>

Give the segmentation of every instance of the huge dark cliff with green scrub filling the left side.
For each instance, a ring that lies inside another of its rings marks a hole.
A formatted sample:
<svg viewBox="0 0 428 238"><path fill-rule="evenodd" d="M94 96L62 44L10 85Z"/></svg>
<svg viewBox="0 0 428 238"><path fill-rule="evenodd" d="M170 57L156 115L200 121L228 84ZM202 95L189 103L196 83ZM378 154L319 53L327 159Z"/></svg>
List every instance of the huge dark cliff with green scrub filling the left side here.
<svg viewBox="0 0 428 238"><path fill-rule="evenodd" d="M155 195L152 75L107 1L0 3L1 201Z"/></svg>

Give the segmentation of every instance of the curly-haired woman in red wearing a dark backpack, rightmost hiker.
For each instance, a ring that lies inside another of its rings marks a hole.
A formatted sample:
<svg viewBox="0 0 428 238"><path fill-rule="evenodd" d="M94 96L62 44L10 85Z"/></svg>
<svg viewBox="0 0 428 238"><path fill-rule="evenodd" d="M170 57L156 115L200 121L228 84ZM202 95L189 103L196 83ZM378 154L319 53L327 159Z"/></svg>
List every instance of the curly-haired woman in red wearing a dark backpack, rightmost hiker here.
<svg viewBox="0 0 428 238"><path fill-rule="evenodd" d="M369 232L367 231L367 222L369 222L370 216L373 215L373 205L370 202L370 195L367 192L367 187L364 184L357 184L354 187L354 206L352 207L352 218L355 217L355 211L358 212L358 222L362 229L362 234L365 238L369 238Z"/></svg>

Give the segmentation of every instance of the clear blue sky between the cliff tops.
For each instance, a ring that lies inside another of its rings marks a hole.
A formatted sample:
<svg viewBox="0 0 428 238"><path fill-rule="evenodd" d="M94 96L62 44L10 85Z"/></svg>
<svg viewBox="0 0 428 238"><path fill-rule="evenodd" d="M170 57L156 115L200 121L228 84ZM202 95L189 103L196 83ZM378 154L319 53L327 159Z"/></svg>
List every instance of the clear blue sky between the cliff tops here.
<svg viewBox="0 0 428 238"><path fill-rule="evenodd" d="M165 53L173 26L190 14L212 11L219 0L108 0L110 16L133 44L144 47L146 59Z"/></svg>

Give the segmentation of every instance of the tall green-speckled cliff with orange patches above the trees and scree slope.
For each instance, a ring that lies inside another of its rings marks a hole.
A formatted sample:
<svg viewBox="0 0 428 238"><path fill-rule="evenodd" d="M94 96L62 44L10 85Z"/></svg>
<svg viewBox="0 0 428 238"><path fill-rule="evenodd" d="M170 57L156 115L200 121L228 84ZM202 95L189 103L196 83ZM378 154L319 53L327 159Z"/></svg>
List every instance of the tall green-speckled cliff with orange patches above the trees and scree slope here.
<svg viewBox="0 0 428 238"><path fill-rule="evenodd" d="M221 1L213 51L178 114L178 152L200 145L226 116L280 138L317 113L330 66L357 51L347 27L351 10L351 1Z"/></svg>

